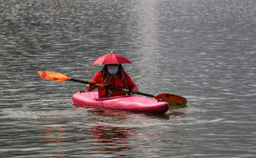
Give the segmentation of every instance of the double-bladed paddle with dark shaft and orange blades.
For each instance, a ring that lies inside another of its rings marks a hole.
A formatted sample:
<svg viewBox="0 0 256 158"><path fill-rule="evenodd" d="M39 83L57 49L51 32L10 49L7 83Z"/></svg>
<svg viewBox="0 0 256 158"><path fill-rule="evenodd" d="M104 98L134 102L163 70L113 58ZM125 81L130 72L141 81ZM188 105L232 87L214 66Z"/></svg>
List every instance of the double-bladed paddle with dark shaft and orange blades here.
<svg viewBox="0 0 256 158"><path fill-rule="evenodd" d="M66 80L68 80L68 81L80 82L80 83L83 83L83 84L89 84L89 81L81 81L81 80L77 80L77 79L74 79L74 78L66 77L62 73L57 73L57 72L50 71L50 70L46 70L46 72L38 72L38 74L43 79L50 80L50 81L66 81ZM95 84L95 85L105 87L105 88L108 88L108 89L117 89L117 90L121 90L121 91L125 91L125 92L130 92L130 90L128 90L128 89L120 89L118 87L112 87L110 85L101 85L101 84ZM172 105L172 106L186 106L186 98L185 97L180 97L180 96L177 96L177 95L174 95L174 94L162 93L162 94L159 94L157 96L154 96L154 95L151 95L151 94L146 94L146 93L140 93L140 92L138 92L137 94L142 95L142 96L146 96L146 97L154 97L156 100L165 101L169 105Z"/></svg>

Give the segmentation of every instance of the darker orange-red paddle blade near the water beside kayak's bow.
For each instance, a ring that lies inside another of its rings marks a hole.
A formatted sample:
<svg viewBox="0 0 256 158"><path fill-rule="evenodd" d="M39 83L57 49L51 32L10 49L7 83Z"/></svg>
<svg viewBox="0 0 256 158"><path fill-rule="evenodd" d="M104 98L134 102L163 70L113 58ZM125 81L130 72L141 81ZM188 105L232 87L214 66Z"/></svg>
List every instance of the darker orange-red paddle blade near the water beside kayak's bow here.
<svg viewBox="0 0 256 158"><path fill-rule="evenodd" d="M186 106L186 98L180 97L174 94L162 93L158 96L154 96L155 99L167 102L169 105L173 106Z"/></svg>

